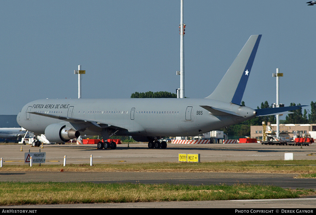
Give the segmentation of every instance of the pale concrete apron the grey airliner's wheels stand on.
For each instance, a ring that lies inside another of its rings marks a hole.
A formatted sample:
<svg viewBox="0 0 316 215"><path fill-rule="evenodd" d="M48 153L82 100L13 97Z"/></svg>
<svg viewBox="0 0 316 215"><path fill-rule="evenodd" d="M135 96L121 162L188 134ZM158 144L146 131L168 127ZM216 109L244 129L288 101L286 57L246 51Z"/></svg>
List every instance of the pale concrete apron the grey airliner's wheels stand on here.
<svg viewBox="0 0 316 215"><path fill-rule="evenodd" d="M117 149L96 149L89 145L1 145L0 157L5 164L21 164L24 153L46 152L46 164L63 164L64 155L67 163L89 163L93 155L94 163L115 162L177 162L179 153L199 153L201 162L207 161L240 161L240 160L283 160L285 152L293 152L294 159L316 160L316 143L310 146L272 146L260 143L240 144L168 144L167 149L149 149L147 144L121 144Z"/></svg>

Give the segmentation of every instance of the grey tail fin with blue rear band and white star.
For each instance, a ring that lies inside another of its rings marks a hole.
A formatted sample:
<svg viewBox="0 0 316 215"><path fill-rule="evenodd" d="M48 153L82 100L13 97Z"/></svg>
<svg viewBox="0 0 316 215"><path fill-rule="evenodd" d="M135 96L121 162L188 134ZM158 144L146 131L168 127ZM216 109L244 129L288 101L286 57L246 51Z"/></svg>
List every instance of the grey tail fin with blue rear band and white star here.
<svg viewBox="0 0 316 215"><path fill-rule="evenodd" d="M261 34L250 36L214 92L205 99L216 99L240 105L260 39Z"/></svg>

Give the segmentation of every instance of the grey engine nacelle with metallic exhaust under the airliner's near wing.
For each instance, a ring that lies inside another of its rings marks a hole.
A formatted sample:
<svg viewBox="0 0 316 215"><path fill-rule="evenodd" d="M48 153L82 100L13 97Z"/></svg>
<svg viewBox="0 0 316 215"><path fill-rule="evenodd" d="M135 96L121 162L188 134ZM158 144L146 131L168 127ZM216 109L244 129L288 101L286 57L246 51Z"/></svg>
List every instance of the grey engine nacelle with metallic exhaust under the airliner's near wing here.
<svg viewBox="0 0 316 215"><path fill-rule="evenodd" d="M80 132L73 128L67 128L64 124L50 124L45 128L46 139L52 143L64 143L71 139L78 138Z"/></svg>

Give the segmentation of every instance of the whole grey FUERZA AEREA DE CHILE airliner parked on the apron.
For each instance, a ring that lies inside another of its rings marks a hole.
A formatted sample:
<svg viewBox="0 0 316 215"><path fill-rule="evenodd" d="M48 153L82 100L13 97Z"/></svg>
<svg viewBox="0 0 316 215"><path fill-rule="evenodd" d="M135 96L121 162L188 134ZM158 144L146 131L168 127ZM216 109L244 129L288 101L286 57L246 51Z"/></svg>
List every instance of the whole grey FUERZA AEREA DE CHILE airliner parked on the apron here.
<svg viewBox="0 0 316 215"><path fill-rule="evenodd" d="M132 136L149 148L166 148L162 137L196 136L255 116L274 115L300 106L254 110L241 106L261 35L252 35L216 89L204 99L40 99L25 105L17 122L50 142L79 135ZM116 148L99 142L98 148Z"/></svg>

